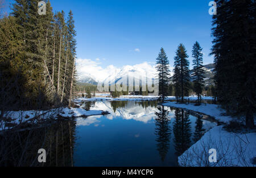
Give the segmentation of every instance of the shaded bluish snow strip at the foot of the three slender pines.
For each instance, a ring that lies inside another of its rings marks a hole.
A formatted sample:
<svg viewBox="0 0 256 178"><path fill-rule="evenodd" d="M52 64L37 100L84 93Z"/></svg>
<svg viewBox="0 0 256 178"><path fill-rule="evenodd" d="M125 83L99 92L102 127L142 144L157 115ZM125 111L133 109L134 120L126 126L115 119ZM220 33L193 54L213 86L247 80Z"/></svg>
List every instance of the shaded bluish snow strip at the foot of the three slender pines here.
<svg viewBox="0 0 256 178"><path fill-rule="evenodd" d="M200 106L195 106L195 104L177 104L176 102L167 102L163 103L163 105L167 107L183 108L204 113L205 115L212 116L216 120L224 123L228 123L229 121L233 120L233 118L230 116L222 116L225 111L216 104L202 104Z"/></svg>

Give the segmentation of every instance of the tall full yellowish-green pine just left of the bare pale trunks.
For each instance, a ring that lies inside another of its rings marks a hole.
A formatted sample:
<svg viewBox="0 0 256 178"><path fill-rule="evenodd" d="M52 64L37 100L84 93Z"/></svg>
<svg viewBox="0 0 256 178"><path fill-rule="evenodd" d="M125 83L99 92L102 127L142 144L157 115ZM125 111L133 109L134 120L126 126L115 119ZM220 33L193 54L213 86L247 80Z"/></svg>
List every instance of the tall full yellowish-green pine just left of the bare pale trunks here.
<svg viewBox="0 0 256 178"><path fill-rule="evenodd" d="M52 104L52 84L46 79L47 66L45 64L46 33L44 31L43 16L38 14L38 1L16 0L13 5L13 15L23 38L23 61L26 63L27 82L24 87L27 105L42 108ZM49 74L47 74L49 77ZM29 106L28 106L29 107Z"/></svg>

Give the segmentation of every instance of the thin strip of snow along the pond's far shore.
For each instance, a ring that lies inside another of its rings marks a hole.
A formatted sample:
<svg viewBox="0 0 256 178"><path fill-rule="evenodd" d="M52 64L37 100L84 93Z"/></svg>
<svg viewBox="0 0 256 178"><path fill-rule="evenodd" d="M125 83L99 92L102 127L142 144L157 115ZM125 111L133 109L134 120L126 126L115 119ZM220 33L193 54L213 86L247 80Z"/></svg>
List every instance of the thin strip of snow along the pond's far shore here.
<svg viewBox="0 0 256 178"><path fill-rule="evenodd" d="M96 95L97 96L97 95ZM104 100L109 100L109 101L138 101L138 100L158 100L159 96L142 96L142 95L125 95L125 96L120 96L119 98L112 98L108 96L98 95L101 97L93 97L93 98L77 98L74 101L76 103L80 103L81 101L104 101ZM175 100L175 96L167 96L166 100ZM185 97L184 99L186 100L197 100L197 96L189 96ZM213 97L211 96L202 96L202 100L213 100Z"/></svg>

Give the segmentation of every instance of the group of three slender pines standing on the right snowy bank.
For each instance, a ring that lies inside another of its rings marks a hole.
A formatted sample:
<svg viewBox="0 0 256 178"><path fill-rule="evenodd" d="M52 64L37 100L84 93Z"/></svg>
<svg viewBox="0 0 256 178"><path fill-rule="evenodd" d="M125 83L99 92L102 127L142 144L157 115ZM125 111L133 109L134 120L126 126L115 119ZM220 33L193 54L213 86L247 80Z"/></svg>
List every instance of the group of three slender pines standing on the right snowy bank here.
<svg viewBox="0 0 256 178"><path fill-rule="evenodd" d="M187 50L183 44L180 44L176 50L174 75L171 78L170 62L164 49L160 49L158 58L156 58L156 70L159 77L159 95L163 102L166 96L174 95L177 101L180 100L181 103L184 103L184 97L195 92L198 96L197 104L200 105L200 96L204 88L202 50L203 48L196 41L192 50L193 73L190 74Z"/></svg>

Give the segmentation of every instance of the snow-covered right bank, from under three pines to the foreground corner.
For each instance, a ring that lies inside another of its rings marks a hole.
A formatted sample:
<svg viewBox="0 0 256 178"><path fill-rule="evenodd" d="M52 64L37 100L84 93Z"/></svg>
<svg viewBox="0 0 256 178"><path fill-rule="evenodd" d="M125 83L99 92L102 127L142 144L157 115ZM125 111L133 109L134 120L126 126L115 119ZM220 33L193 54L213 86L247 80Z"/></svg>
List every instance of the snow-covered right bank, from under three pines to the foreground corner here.
<svg viewBox="0 0 256 178"><path fill-rule="evenodd" d="M228 124L235 120L230 116L223 116L224 109L216 104L177 104L167 102L167 107L183 108L214 117L216 120ZM215 126L187 151L179 156L179 165L188 167L201 166L255 166L252 164L256 157L256 133L227 132L224 126ZM209 150L217 151L217 163L209 163Z"/></svg>

